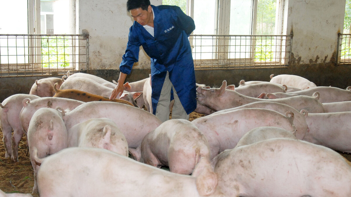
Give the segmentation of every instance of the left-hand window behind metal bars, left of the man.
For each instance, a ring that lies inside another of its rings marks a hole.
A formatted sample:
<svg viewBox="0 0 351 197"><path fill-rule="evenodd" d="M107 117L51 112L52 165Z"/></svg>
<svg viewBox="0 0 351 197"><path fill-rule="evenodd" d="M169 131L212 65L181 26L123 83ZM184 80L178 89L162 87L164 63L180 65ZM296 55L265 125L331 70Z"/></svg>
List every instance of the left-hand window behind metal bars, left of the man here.
<svg viewBox="0 0 351 197"><path fill-rule="evenodd" d="M0 77L47 75L87 65L87 39L74 35L75 0L0 2ZM53 35L55 34L55 35ZM82 58L84 56L85 58ZM43 75L43 74L39 74Z"/></svg>

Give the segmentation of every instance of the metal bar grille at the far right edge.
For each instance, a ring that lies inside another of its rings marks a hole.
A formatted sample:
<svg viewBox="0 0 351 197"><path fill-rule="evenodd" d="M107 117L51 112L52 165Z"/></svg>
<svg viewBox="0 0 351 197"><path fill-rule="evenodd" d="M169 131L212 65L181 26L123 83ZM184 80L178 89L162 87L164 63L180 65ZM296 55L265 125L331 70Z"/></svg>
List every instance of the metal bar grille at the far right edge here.
<svg viewBox="0 0 351 197"><path fill-rule="evenodd" d="M338 33L336 64L351 64L351 34Z"/></svg>

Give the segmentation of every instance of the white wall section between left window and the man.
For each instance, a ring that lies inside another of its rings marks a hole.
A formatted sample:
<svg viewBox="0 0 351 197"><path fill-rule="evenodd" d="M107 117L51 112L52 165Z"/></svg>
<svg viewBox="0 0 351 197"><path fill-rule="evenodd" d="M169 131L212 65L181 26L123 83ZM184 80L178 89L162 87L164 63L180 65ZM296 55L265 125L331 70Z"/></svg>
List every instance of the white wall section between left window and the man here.
<svg viewBox="0 0 351 197"><path fill-rule="evenodd" d="M151 0L160 5L162 0ZM89 69L119 69L133 24L125 0L79 1L79 34L89 33ZM134 68L150 68L150 58L140 47Z"/></svg>

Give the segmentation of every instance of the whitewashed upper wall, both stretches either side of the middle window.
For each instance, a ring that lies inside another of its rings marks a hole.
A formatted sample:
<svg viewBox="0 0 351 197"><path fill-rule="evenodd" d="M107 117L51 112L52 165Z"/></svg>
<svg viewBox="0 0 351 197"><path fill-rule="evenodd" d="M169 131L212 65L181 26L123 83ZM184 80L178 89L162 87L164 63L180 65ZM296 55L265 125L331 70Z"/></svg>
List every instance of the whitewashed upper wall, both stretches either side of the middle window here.
<svg viewBox="0 0 351 197"><path fill-rule="evenodd" d="M293 31L294 57L300 57L300 64L330 62L337 50L337 34L343 31L345 0L285 1L284 30ZM161 3L151 0L153 5ZM89 69L119 69L132 23L125 0L79 1L79 33L90 34ZM134 68L150 68L140 49Z"/></svg>

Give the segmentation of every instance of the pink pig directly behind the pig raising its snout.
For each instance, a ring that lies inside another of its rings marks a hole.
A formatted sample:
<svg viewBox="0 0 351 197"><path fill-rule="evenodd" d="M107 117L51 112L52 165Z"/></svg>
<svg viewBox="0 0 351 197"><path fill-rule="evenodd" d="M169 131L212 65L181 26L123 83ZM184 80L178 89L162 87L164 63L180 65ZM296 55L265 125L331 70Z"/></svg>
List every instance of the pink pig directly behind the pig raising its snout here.
<svg viewBox="0 0 351 197"><path fill-rule="evenodd" d="M276 85L273 83L257 83L252 85L245 85L241 87L235 87L235 85L229 85L226 87L227 90L234 90L240 94L248 97L258 97L262 92L282 92L285 93L285 88L282 85Z"/></svg>

